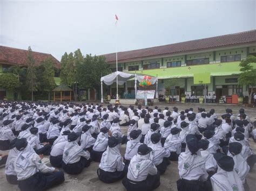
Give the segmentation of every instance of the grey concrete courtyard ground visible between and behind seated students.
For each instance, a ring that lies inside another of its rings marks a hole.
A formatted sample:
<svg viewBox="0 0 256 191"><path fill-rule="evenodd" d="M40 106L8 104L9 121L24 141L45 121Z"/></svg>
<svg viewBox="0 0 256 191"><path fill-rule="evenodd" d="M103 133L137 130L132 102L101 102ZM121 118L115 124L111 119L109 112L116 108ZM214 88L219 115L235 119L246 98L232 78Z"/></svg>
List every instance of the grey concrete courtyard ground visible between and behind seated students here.
<svg viewBox="0 0 256 191"><path fill-rule="evenodd" d="M106 105L106 104L104 104ZM233 110L234 115L238 113L238 110L241 108L239 105L220 105L220 104L165 104L158 103L161 109L164 107L169 107L172 110L172 107L176 106L179 110L184 110L186 108L194 108L194 111L197 112L198 107L203 107L206 111L209 111L211 108L214 108L217 114L223 114L226 108ZM242 107L245 108L245 107ZM252 121L256 120L256 108L245 108L246 114L250 116ZM124 134L127 132L127 127L122 128ZM256 144L250 139L250 146L253 150L253 153L256 154ZM125 153L125 145L122 145L121 154ZM43 161L46 165L50 166L49 157L45 157ZM79 175L69 175L65 173L65 182L62 185L54 187L50 190L125 190L121 181L116 183L106 184L99 181L96 170L98 168L98 162L92 162L88 168L85 168L84 171ZM164 175L161 175L160 181L161 185L156 190L177 190L176 181L179 179L178 174L178 162L171 162L171 165L167 167L167 170ZM250 186L250 190L256 190L256 167L247 175L247 182ZM4 174L4 167L0 168L0 191L9 191L9 190L19 190L17 186L10 185ZM246 190L247 191L247 190Z"/></svg>

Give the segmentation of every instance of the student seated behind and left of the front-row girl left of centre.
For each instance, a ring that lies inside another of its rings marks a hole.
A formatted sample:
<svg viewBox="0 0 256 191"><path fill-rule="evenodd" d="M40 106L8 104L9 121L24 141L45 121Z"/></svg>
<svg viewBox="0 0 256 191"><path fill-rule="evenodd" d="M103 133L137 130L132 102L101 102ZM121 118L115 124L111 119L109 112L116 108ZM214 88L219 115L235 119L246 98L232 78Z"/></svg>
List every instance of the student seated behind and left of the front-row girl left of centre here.
<svg viewBox="0 0 256 191"><path fill-rule="evenodd" d="M100 160L102 159L102 154L106 151L107 148L107 140L109 140L108 132L109 129L107 129L106 127L100 129L100 133L91 151L91 159L93 161L100 162Z"/></svg>

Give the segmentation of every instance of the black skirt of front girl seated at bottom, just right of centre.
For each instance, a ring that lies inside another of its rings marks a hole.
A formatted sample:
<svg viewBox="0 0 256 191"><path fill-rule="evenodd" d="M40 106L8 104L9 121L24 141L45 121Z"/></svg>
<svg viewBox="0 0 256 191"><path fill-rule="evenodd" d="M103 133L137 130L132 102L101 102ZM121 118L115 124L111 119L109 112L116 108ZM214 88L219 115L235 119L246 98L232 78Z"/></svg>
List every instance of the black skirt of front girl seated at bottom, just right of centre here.
<svg viewBox="0 0 256 191"><path fill-rule="evenodd" d="M125 176L122 183L128 191L154 190L160 186L160 173L158 172L156 175L147 175L146 180L140 182L131 181Z"/></svg>

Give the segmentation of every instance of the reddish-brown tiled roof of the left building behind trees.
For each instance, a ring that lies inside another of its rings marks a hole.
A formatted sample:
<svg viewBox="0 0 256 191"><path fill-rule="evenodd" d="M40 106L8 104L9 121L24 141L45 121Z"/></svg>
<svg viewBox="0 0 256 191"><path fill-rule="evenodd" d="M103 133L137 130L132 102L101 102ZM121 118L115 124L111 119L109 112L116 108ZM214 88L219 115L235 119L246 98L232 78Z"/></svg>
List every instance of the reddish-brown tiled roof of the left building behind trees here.
<svg viewBox="0 0 256 191"><path fill-rule="evenodd" d="M33 58L36 64L41 64L47 58L51 58L56 68L60 68L60 62L51 54L32 51ZM7 46L0 46L0 61L6 65L21 65L26 66L26 58L28 51L25 49L12 48Z"/></svg>

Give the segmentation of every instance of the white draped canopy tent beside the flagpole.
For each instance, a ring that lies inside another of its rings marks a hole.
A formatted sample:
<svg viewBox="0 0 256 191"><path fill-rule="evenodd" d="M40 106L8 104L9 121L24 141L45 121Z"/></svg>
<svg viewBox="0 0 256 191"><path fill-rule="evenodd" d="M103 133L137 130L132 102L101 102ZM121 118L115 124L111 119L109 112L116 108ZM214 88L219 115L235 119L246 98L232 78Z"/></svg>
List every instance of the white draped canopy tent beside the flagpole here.
<svg viewBox="0 0 256 191"><path fill-rule="evenodd" d="M144 80L144 75L141 74L131 74L131 73L124 73L124 72L113 72L109 75L105 75L101 77L100 82L101 82L101 91L102 91L102 100L101 102L103 103L103 82L107 85L110 86L114 82L118 82L118 85L122 86L127 80L133 79L134 78L134 89L135 89L135 98L137 94L137 80L139 82L142 82ZM157 77L151 76L151 83L152 84L157 84L158 88L158 80ZM157 89L156 88L156 89ZM156 90L156 98L158 98L158 93Z"/></svg>

